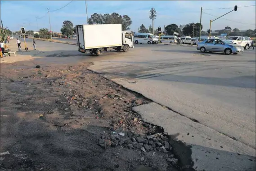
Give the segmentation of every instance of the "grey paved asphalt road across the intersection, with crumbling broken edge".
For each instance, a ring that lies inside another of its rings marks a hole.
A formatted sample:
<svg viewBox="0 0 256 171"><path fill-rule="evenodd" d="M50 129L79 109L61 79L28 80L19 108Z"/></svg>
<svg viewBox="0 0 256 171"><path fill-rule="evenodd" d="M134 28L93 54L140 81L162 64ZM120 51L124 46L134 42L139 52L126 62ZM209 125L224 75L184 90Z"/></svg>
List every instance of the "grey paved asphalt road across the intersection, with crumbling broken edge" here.
<svg viewBox="0 0 256 171"><path fill-rule="evenodd" d="M31 39L26 40L31 46ZM193 159L199 158L201 167L197 163L195 166L201 170L205 169L202 165L209 163L215 167L233 166L225 167L227 171L239 166L244 170L255 168L247 163L251 161L248 156L255 156L256 144L254 50L227 56L202 54L192 46L138 44L126 53L107 52L99 57L82 54L74 45L36 43L38 50L31 51L31 55L47 57L36 60L52 64L94 62L90 69L152 99L155 104L135 110L179 140L197 145ZM159 104L165 108L158 107ZM166 111L166 107L171 110ZM193 136L187 136L189 133ZM214 160L218 154L227 160L209 162L213 159L206 158L204 152L200 154L202 148L211 151ZM238 165L232 165L234 161Z"/></svg>

